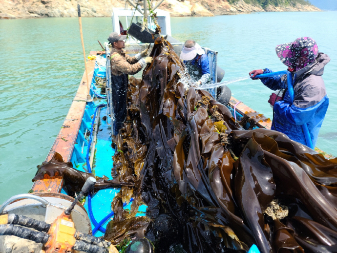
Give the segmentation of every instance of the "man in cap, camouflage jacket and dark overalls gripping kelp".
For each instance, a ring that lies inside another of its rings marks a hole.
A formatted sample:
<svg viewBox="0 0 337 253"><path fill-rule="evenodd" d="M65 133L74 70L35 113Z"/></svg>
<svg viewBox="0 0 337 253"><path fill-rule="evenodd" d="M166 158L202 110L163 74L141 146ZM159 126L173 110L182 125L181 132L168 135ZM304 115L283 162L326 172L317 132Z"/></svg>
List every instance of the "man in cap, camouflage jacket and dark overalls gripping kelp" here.
<svg viewBox="0 0 337 253"><path fill-rule="evenodd" d="M117 135L126 121L127 109L127 86L128 75L138 73L145 65L152 62L152 57L147 56L147 49L141 53L130 57L125 53L126 35L120 35L113 32L107 39L112 46L110 52L111 62L111 97L114 111L113 133Z"/></svg>

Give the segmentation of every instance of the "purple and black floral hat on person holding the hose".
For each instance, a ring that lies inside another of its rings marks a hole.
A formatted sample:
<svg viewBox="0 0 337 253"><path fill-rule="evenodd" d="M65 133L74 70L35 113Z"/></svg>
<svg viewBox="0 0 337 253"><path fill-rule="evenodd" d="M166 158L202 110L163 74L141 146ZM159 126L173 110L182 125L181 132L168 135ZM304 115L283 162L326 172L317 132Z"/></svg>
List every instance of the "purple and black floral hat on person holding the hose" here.
<svg viewBox="0 0 337 253"><path fill-rule="evenodd" d="M316 42L309 37L301 37L295 42L275 47L277 57L288 66L289 71L298 71L315 61L318 54Z"/></svg>

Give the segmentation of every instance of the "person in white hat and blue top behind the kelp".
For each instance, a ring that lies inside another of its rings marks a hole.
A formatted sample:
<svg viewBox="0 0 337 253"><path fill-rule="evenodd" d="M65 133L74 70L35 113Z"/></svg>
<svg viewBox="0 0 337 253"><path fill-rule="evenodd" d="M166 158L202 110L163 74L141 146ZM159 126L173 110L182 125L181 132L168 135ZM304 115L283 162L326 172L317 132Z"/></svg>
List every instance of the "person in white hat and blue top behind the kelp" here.
<svg viewBox="0 0 337 253"><path fill-rule="evenodd" d="M193 40L187 40L181 51L180 58L184 61L195 85L199 86L211 81L208 56L198 43Z"/></svg>

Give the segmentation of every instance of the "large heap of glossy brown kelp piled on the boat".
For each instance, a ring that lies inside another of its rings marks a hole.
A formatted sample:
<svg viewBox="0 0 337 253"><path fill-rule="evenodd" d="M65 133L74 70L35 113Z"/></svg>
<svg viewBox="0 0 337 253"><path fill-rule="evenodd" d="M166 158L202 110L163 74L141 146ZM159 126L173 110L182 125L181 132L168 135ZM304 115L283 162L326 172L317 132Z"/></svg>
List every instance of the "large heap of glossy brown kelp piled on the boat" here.
<svg viewBox="0 0 337 253"><path fill-rule="evenodd" d="M242 130L207 91L185 88L164 39L150 56L115 138L112 175L133 187L114 199L105 239L146 237L155 252L337 252L337 159L277 131Z"/></svg>

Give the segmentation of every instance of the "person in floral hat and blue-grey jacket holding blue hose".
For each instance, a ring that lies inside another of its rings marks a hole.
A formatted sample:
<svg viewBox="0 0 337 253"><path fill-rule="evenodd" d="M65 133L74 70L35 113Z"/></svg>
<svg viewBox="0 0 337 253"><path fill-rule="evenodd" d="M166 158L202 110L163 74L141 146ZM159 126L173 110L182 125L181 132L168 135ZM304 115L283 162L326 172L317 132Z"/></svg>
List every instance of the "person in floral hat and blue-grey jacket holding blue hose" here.
<svg viewBox="0 0 337 253"><path fill-rule="evenodd" d="M292 73L295 99L293 103L290 100L286 75L260 78L270 89L279 90L272 94L268 101L274 108L272 129L308 146L301 127L307 124L315 147L329 105L322 75L324 66L329 63L330 58L326 54L319 53L316 42L309 37L301 37L294 42L278 45L275 50L277 57ZM251 71L249 75L252 79L258 79L255 78L256 75L272 72L268 68L257 69Z"/></svg>

